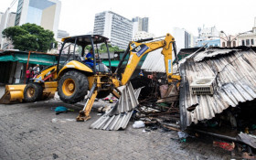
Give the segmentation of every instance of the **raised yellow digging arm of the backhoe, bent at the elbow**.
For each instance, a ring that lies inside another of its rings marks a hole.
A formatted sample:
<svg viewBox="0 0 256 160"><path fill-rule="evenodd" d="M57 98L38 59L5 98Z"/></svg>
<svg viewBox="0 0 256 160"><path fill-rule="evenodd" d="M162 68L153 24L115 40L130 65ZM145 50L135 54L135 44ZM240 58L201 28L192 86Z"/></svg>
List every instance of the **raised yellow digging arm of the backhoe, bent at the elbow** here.
<svg viewBox="0 0 256 160"><path fill-rule="evenodd" d="M158 41L153 41L148 43L143 43L142 40L130 42L129 44L130 57L128 59L126 68L124 69L124 72L123 72L123 79L121 81L122 85L125 85L130 80L139 61L144 57L144 55L158 48L163 48L161 53L165 57L165 71L166 71L166 77L167 77L168 83L173 82L173 80L180 80L180 76L173 75L172 50L173 50L174 43L175 43L175 38L172 37L170 34L167 34L164 40L158 40ZM128 49L126 51L128 51Z"/></svg>

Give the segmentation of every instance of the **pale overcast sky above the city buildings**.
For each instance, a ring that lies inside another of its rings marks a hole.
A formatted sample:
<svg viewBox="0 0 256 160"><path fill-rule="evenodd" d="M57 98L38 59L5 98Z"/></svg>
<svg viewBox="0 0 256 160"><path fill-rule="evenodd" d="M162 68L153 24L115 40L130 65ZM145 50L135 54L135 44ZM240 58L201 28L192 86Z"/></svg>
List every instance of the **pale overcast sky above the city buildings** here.
<svg viewBox="0 0 256 160"><path fill-rule="evenodd" d="M13 0L1 0L0 12ZM132 19L149 17L149 32L163 36L172 27L187 29L197 36L197 27L213 27L227 34L251 30L256 16L256 0L60 0L62 3L59 29L70 35L93 31L94 16L112 10ZM16 12L16 6L13 6Z"/></svg>

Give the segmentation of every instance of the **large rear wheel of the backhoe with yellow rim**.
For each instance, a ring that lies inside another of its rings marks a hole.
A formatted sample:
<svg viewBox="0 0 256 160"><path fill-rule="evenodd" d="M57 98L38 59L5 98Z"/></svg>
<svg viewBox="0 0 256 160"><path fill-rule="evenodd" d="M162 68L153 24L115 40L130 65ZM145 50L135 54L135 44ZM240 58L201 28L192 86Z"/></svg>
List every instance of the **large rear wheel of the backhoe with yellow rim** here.
<svg viewBox="0 0 256 160"><path fill-rule="evenodd" d="M88 86L88 79L83 73L70 70L59 80L59 98L71 104L82 101L88 92Z"/></svg>

